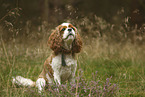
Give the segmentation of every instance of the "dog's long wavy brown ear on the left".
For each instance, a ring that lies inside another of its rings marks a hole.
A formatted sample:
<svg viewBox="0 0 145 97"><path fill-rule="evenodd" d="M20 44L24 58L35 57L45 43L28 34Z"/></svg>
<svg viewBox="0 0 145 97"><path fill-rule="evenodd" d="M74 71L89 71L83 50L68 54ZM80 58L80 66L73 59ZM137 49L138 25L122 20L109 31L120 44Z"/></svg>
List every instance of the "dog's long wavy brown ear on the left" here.
<svg viewBox="0 0 145 97"><path fill-rule="evenodd" d="M56 27L55 30L51 33L48 39L48 45L50 48L54 51L55 54L58 54L58 52L61 52L62 49L62 38L60 36L60 27Z"/></svg>

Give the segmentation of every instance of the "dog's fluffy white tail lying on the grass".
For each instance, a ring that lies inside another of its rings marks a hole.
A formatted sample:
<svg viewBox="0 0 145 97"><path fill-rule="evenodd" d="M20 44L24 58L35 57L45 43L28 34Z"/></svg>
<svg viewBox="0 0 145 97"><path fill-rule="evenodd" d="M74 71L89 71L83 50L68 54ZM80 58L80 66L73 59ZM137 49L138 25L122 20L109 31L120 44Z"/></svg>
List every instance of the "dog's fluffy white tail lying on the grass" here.
<svg viewBox="0 0 145 97"><path fill-rule="evenodd" d="M12 83L16 84L18 86L24 86L24 87L34 87L35 86L35 82L32 81L31 79L27 79L24 78L22 76L16 76L16 77L12 77Z"/></svg>

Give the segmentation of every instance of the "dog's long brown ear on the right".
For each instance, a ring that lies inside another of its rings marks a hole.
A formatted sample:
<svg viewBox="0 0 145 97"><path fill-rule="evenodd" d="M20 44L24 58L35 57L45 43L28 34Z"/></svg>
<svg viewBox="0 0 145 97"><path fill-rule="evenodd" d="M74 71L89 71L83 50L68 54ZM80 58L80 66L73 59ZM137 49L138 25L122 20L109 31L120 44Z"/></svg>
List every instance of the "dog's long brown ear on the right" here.
<svg viewBox="0 0 145 97"><path fill-rule="evenodd" d="M79 33L76 33L76 37L75 37L75 40L73 41L73 44L72 44L72 52L73 53L79 53L82 49L82 39L79 35Z"/></svg>

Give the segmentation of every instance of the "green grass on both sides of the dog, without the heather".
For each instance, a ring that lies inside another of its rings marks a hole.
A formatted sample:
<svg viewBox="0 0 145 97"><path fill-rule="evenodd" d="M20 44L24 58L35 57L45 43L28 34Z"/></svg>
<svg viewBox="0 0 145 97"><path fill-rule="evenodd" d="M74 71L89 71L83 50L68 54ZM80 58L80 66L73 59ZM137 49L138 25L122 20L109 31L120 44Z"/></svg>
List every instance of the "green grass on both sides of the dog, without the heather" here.
<svg viewBox="0 0 145 97"><path fill-rule="evenodd" d="M3 46L1 48L4 49ZM13 51L15 48L13 50L7 46L5 48L6 52L2 50L3 52L0 56L0 96L41 96L35 92L35 88L16 87L12 85L11 80L12 76L16 75L36 80L50 52L46 50L47 48L29 47L29 51L24 48L24 52L19 55L17 54L19 52ZM37 52L36 49L40 49L41 53ZM106 78L111 78L110 82L117 84L119 88L117 96L143 97L145 95L144 60L120 58L121 55L114 53L109 53L107 56L99 54L99 56L93 57L91 53L86 52L89 52L88 49L84 49L78 56L78 69L83 70L83 77L86 81L100 81L99 85L103 85L102 83L106 82ZM94 52L96 52L95 48ZM95 54L94 52L92 51L93 54ZM129 52L126 53L129 54ZM137 56L136 58L138 59ZM97 77L94 79L92 73L96 71L98 71Z"/></svg>

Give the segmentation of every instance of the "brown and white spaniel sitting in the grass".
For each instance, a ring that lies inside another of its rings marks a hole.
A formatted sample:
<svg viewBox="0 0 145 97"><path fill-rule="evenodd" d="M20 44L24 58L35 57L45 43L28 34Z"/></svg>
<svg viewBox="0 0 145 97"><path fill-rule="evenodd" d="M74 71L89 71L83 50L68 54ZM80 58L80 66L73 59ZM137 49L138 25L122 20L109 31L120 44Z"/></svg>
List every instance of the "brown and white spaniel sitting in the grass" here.
<svg viewBox="0 0 145 97"><path fill-rule="evenodd" d="M50 35L48 44L53 50L44 62L44 67L36 82L21 76L13 77L13 83L21 86L36 86L41 93L46 83L61 84L75 82L77 60L75 53L82 48L82 40L77 29L70 23L62 23Z"/></svg>

